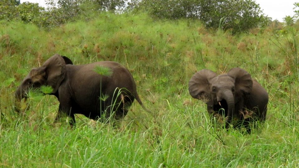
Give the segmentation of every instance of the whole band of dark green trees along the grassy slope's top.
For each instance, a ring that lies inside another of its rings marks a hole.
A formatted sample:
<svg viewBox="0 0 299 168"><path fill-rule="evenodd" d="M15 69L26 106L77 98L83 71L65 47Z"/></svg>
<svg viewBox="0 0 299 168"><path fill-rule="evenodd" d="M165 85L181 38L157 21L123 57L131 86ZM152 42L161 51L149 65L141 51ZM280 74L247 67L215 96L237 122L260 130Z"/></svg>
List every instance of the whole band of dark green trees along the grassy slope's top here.
<svg viewBox="0 0 299 168"><path fill-rule="evenodd" d="M253 0L46 0L48 8L19 0L0 2L0 19L31 22L51 29L79 18L89 20L102 11L146 12L154 19L199 19L206 27L248 31L268 25L270 18Z"/></svg>

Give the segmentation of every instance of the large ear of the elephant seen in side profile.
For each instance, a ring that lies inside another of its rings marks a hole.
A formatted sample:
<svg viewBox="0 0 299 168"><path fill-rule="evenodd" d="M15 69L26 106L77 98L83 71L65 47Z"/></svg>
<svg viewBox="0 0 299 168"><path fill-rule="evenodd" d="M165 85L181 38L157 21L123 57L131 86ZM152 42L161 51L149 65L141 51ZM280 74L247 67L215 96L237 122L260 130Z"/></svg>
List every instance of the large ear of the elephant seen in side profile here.
<svg viewBox="0 0 299 168"><path fill-rule="evenodd" d="M49 58L42 67L46 71L46 84L52 86L55 93L65 77L65 61L61 55L55 54Z"/></svg>

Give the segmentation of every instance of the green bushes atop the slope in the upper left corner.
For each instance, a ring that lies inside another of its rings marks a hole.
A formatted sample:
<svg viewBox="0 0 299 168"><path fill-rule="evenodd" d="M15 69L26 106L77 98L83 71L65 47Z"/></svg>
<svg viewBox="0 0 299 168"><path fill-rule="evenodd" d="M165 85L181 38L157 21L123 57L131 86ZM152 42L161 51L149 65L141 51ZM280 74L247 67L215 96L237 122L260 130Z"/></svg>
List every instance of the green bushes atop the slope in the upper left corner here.
<svg viewBox="0 0 299 168"><path fill-rule="evenodd" d="M0 1L0 20L21 20L51 29L75 21L89 19L102 11L118 12L125 8L125 0L47 0L47 10L38 3L19 0Z"/></svg>

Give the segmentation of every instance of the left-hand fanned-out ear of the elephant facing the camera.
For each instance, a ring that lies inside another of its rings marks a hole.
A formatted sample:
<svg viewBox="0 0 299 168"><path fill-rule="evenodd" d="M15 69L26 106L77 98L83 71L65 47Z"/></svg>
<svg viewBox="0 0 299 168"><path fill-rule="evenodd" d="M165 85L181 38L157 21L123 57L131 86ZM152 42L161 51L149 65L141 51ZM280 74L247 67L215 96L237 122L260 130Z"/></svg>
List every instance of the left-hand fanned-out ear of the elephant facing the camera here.
<svg viewBox="0 0 299 168"><path fill-rule="evenodd" d="M203 69L196 72L189 81L189 93L195 99L211 102L211 92L209 80L217 74L211 70Z"/></svg>

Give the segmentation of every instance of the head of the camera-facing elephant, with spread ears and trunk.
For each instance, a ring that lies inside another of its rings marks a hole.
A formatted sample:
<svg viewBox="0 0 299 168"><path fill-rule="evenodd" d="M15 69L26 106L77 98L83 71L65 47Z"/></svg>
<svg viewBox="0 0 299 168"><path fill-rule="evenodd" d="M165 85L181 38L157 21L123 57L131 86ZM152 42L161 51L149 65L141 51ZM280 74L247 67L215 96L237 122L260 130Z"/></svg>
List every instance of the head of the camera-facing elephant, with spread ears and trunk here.
<svg viewBox="0 0 299 168"><path fill-rule="evenodd" d="M230 122L235 110L243 106L244 96L251 92L252 85L250 74L241 68L233 68L219 76L203 69L190 79L189 93L195 99L204 100L212 111L224 109L226 121Z"/></svg>

